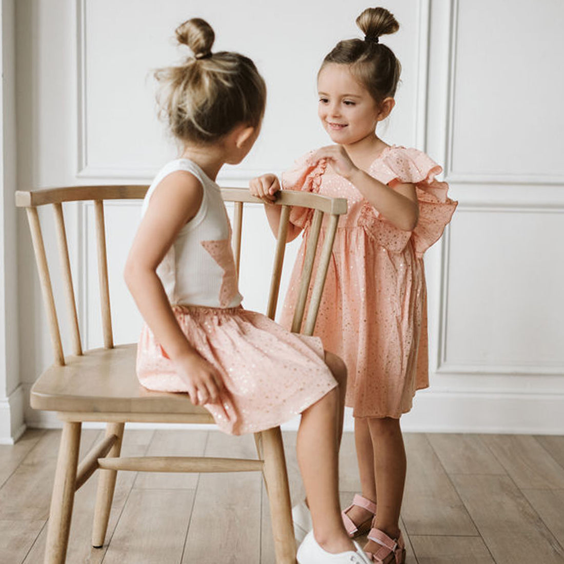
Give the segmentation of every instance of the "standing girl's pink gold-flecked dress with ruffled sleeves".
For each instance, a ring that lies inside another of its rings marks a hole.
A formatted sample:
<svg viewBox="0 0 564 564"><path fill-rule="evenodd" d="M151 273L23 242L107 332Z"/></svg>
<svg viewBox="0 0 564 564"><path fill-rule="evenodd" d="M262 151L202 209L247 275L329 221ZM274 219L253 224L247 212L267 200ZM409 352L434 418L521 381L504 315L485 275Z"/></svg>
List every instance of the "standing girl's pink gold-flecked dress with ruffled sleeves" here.
<svg viewBox="0 0 564 564"><path fill-rule="evenodd" d="M305 161L283 175L283 189L346 198L349 206L338 224L315 334L347 365L346 405L354 416L398 418L411 409L415 391L429 385L423 254L457 202L435 179L442 169L425 153L386 147L367 172L392 188L415 184L419 220L413 231L402 231L325 161ZM305 233L281 314L285 327L292 323L311 213L294 209L290 221Z"/></svg>

